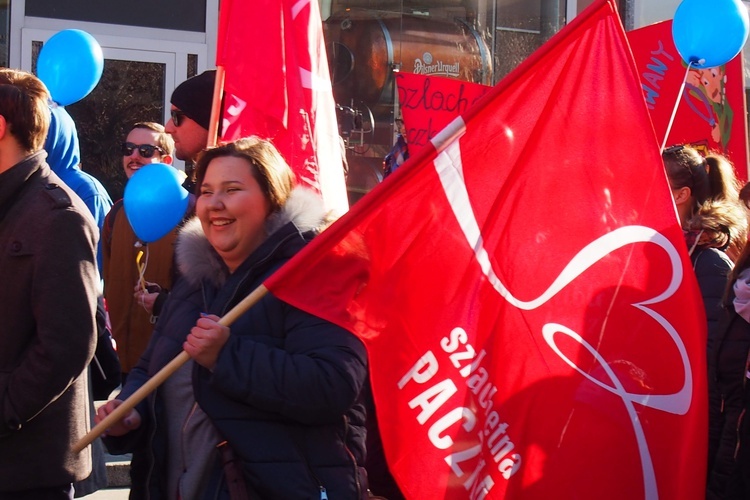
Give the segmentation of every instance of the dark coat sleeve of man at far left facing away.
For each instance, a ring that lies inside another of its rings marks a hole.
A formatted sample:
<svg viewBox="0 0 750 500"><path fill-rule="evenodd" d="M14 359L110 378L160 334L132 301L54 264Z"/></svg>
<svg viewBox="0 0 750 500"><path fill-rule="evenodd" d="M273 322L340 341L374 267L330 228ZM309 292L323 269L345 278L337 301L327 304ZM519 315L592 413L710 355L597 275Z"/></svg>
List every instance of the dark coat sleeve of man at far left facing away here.
<svg viewBox="0 0 750 500"><path fill-rule="evenodd" d="M67 208L45 217L35 228L43 239L28 242L34 262L31 300L36 335L17 367L0 378L2 418L10 428L31 420L60 397L84 373L94 354L93 222ZM22 249L27 240L23 241ZM52 244L55 241L65 244Z"/></svg>

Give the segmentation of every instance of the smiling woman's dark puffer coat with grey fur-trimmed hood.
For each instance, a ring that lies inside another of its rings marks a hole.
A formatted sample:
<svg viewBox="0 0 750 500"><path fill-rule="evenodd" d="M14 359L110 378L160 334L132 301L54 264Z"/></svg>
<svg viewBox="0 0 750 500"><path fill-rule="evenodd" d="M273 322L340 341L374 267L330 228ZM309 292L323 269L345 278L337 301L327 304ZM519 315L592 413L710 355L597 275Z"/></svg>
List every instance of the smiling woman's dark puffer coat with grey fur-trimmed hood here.
<svg viewBox="0 0 750 500"><path fill-rule="evenodd" d="M223 316L307 243L311 234L305 229L320 219L304 221L313 213L306 203L295 191L284 212L270 222L271 236L231 275L199 222L186 224L177 243L181 277L121 398L179 353L200 312ZM367 355L362 342L270 294L230 328L213 373L195 364L193 390L240 457L250 498L320 499L323 491L329 498L366 498L359 467L365 458L360 393ZM146 463L134 464L133 474L147 474L149 498L164 498L158 392L138 409L147 414L144 425L107 442L120 452L150 443L148 453L139 453ZM229 498L225 488L217 464L204 498Z"/></svg>

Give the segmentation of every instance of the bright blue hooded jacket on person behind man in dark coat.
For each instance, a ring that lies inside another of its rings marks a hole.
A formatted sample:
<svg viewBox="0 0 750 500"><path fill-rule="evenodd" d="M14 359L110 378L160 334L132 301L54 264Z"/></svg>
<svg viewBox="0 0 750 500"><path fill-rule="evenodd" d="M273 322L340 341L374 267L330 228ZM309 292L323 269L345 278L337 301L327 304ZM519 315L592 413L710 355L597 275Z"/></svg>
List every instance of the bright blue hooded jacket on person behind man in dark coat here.
<svg viewBox="0 0 750 500"><path fill-rule="evenodd" d="M96 177L81 170L81 150L73 118L62 106L53 104L50 110L52 119L47 140L44 143L44 150L47 151L47 164L83 200L94 217L101 235L104 218L112 207L112 199ZM97 245L96 263L101 275L101 240Z"/></svg>

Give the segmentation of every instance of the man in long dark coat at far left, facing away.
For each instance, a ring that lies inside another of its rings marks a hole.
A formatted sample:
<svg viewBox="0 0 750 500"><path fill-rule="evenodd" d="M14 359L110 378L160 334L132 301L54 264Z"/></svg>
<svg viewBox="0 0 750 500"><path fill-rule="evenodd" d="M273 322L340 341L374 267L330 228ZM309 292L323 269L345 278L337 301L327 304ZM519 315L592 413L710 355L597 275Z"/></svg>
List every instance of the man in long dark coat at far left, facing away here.
<svg viewBox="0 0 750 500"><path fill-rule="evenodd" d="M45 163L49 93L0 69L0 498L72 498L88 429L96 226Z"/></svg>

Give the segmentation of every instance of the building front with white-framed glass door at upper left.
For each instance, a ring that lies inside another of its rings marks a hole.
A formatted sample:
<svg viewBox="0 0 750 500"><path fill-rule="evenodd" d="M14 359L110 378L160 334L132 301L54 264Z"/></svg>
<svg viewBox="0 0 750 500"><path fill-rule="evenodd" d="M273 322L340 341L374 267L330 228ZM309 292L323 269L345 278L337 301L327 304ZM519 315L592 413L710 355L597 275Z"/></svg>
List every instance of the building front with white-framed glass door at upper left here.
<svg viewBox="0 0 750 500"><path fill-rule="evenodd" d="M83 168L118 198L126 181L124 134L138 121L165 123L172 90L214 67L218 12L218 0L2 0L0 59L35 71L39 50L55 33L75 28L96 38L102 79L67 109L78 126Z"/></svg>

